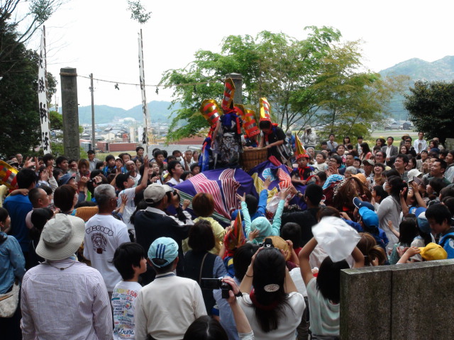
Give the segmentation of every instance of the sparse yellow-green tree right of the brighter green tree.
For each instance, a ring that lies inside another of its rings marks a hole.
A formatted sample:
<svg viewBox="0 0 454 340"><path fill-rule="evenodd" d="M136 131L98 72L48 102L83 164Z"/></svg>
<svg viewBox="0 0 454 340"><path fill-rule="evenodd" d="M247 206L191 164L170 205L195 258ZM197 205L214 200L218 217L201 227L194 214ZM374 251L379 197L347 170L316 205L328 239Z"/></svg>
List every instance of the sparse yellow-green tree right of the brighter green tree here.
<svg viewBox="0 0 454 340"><path fill-rule="evenodd" d="M313 89L319 94L316 121L321 135L368 137L372 123L380 125L389 115L389 101L402 91L405 77L382 78L365 71L360 62L360 42L333 47L323 60Z"/></svg>

